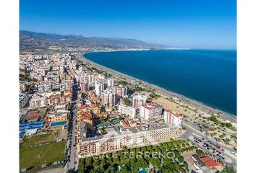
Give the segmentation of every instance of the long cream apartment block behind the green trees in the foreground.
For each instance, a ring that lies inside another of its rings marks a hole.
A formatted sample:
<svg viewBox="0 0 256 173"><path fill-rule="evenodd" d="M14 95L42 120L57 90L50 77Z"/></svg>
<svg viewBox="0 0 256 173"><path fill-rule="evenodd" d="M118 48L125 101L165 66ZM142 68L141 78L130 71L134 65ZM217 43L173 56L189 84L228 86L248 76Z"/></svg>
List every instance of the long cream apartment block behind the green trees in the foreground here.
<svg viewBox="0 0 256 173"><path fill-rule="evenodd" d="M167 123L111 128L108 129L106 135L93 138L84 138L82 130L80 130L79 136L77 137L77 153L79 158L83 158L95 154L119 151L123 146L135 148L154 145L169 141L171 138L179 138L179 136L179 128L168 125Z"/></svg>

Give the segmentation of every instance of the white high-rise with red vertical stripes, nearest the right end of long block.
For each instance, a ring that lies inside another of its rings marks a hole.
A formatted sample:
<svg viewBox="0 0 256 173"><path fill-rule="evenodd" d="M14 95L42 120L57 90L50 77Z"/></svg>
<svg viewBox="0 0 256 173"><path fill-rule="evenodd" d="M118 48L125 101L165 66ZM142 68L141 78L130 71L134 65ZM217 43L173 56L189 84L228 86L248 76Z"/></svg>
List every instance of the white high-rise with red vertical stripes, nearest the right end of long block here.
<svg viewBox="0 0 256 173"><path fill-rule="evenodd" d="M164 122L176 126L180 126L183 119L182 115L179 115L176 112L172 112L171 110L165 110L163 112L163 118Z"/></svg>

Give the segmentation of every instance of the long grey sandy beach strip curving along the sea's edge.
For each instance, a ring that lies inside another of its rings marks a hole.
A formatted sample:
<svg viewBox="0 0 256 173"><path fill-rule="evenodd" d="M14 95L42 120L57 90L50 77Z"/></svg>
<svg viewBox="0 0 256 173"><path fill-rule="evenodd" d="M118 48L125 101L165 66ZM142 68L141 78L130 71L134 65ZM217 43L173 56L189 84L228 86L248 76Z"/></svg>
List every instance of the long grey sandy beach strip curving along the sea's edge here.
<svg viewBox="0 0 256 173"><path fill-rule="evenodd" d="M221 119L229 120L231 123L236 123L236 116L231 115L228 112L224 112L222 110L218 110L218 109L216 109L214 107L210 107L208 105L205 105L202 102L198 102L195 99L190 99L188 97L185 97L182 94L178 94L178 93L175 93L175 92L168 91L167 89L164 89L164 88L162 88L160 86L157 86L155 84L150 84L147 81L136 79L135 77L129 76L127 74L122 74L119 71L115 71L115 70L113 70L111 68L107 68L105 66L102 66L102 65L100 65L98 63L95 63L95 62L90 61L87 58L85 58L85 54L86 53L81 53L81 55L78 57L78 59L80 61L82 61L82 62L90 63L95 68L100 68L100 69L102 69L104 71L107 71L109 74L112 74L113 76L125 77L126 79L128 79L130 81L131 80L133 80L133 81L141 81L142 84L144 84L145 86L150 86L153 89L155 89L156 92L158 92L158 94L161 94L162 97L176 97L176 98L182 100L182 103L184 103L185 105L191 105L192 107L195 107L197 110L203 110L204 112L210 111L210 112L213 112L213 113L219 113L218 116L221 117Z"/></svg>

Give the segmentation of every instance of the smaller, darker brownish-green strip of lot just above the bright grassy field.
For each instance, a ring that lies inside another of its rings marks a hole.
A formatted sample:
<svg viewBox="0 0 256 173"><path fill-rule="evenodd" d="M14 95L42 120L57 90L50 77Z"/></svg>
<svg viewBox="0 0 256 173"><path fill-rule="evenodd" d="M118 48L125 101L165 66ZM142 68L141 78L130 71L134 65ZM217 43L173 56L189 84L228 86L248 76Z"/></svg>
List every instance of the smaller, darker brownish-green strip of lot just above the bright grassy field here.
<svg viewBox="0 0 256 173"><path fill-rule="evenodd" d="M27 137L22 143L22 147L35 146L44 143L53 143L56 141L57 133L49 133L44 135L37 135L32 137Z"/></svg>

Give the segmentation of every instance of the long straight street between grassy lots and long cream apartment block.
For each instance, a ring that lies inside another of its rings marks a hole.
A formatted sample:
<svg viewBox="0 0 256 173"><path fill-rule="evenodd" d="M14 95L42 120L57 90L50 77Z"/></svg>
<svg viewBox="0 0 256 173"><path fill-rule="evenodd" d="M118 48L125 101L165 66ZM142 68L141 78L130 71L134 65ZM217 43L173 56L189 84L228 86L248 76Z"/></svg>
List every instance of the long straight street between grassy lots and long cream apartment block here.
<svg viewBox="0 0 256 173"><path fill-rule="evenodd" d="M76 148L76 120L77 120L77 84L73 87L73 96L71 111L69 117L69 135L67 141L67 164L64 167L64 172L72 170L77 172L78 169L78 157Z"/></svg>

